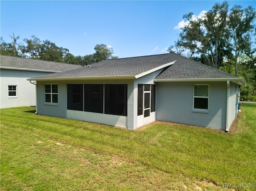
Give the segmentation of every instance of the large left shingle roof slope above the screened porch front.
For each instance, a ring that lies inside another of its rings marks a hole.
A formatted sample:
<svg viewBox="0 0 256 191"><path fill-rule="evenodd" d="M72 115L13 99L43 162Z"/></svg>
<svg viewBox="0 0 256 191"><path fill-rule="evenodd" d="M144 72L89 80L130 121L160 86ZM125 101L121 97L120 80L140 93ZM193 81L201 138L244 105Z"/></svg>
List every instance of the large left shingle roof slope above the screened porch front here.
<svg viewBox="0 0 256 191"><path fill-rule="evenodd" d="M170 54L104 60L94 63L90 67L82 67L33 79L136 76L172 61L174 60Z"/></svg>

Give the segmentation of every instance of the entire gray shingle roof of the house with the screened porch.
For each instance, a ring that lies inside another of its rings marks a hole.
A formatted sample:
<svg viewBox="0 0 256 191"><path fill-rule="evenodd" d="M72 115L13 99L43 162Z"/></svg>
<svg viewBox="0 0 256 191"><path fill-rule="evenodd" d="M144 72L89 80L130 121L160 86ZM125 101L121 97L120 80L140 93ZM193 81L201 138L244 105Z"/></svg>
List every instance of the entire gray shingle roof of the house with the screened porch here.
<svg viewBox="0 0 256 191"><path fill-rule="evenodd" d="M35 77L32 80L64 79L136 79L163 69L154 81L234 81L245 85L242 78L174 53L104 60L71 71ZM31 79L30 79L31 80Z"/></svg>

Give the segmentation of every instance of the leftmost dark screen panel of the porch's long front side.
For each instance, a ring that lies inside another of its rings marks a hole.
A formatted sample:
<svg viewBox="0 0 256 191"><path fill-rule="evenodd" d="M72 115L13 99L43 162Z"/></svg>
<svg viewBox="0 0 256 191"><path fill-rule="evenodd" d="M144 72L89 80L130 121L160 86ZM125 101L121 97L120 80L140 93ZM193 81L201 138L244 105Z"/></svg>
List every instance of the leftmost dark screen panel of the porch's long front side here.
<svg viewBox="0 0 256 191"><path fill-rule="evenodd" d="M83 110L83 84L67 85L68 110Z"/></svg>

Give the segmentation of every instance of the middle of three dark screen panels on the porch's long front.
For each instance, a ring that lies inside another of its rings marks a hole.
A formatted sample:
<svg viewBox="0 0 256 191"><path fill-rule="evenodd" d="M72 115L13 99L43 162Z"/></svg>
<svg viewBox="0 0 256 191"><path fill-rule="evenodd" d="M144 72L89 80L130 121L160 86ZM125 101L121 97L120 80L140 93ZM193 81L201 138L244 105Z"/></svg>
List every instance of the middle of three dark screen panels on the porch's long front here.
<svg viewBox="0 0 256 191"><path fill-rule="evenodd" d="M84 111L103 113L103 84L84 85Z"/></svg>

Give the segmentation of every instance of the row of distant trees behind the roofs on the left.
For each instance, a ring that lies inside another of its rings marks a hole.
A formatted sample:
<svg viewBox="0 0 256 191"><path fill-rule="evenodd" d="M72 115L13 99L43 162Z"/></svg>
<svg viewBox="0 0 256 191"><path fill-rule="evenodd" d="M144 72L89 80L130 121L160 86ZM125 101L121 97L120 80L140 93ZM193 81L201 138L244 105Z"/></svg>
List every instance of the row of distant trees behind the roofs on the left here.
<svg viewBox="0 0 256 191"><path fill-rule="evenodd" d="M95 53L93 54L74 56L69 53L67 48L58 47L55 43L49 40L41 41L34 35L31 36L30 39L23 39L23 44L17 43L17 39L19 39L20 36L15 37L13 33L13 36L10 35L10 37L13 40L12 43L6 43L2 37L0 38L0 54L70 63L82 66L90 65L106 59L118 58L117 56L113 55L113 49L104 44L97 44L94 47Z"/></svg>

